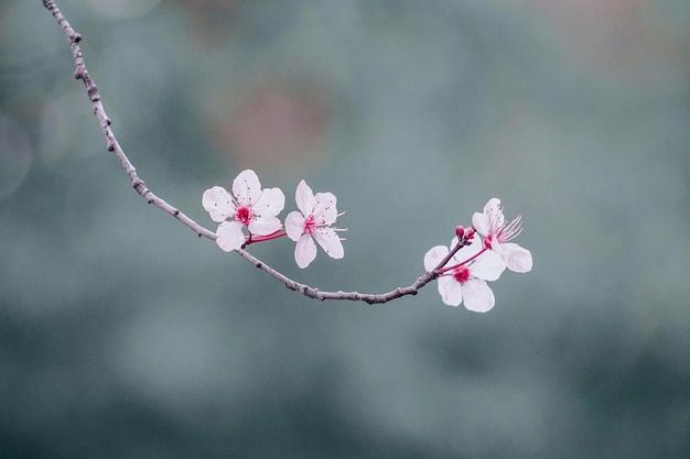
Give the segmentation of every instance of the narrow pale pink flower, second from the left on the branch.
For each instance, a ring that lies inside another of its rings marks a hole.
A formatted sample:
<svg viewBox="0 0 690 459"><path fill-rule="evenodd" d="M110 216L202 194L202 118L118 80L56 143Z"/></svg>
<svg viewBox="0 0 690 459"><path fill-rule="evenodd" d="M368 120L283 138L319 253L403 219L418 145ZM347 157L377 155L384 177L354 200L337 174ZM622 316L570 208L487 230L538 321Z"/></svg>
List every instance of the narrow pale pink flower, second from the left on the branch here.
<svg viewBox="0 0 690 459"><path fill-rule="evenodd" d="M335 209L336 198L332 193L316 193L302 181L294 193L300 212L293 211L285 218L288 238L297 241L294 261L300 267L306 267L316 258L316 244L334 259L343 258L343 243L337 228L331 228L338 216Z"/></svg>

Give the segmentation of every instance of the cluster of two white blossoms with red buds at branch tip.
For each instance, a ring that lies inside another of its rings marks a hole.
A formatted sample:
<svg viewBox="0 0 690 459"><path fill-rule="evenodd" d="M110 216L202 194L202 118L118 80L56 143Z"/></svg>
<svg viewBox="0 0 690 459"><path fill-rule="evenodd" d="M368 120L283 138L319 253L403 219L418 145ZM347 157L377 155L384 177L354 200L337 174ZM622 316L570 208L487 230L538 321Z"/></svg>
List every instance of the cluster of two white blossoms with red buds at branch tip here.
<svg viewBox="0 0 690 459"><path fill-rule="evenodd" d="M464 303L470 310L486 313L495 304L487 282L498 280L506 269L517 273L531 271L530 251L509 242L522 231L521 220L519 215L506 225L500 199L492 198L482 212L472 216L471 228L455 229L450 249L436 245L427 252L424 269L438 274L443 303Z"/></svg>

